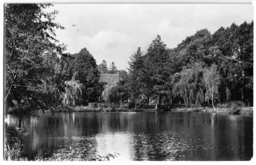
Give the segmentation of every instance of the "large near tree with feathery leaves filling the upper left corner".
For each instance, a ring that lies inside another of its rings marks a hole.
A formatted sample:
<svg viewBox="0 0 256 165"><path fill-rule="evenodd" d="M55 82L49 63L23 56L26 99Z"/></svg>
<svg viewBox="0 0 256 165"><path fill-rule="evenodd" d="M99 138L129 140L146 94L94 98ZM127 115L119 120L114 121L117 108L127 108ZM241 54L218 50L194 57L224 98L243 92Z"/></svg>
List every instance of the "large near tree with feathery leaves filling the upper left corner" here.
<svg viewBox="0 0 256 165"><path fill-rule="evenodd" d="M63 50L55 38L55 30L63 29L53 21L57 11L44 12L50 6L5 5L5 101L8 106L12 106L12 100L27 105L38 101L38 96L49 96L58 90L46 88L49 80L55 82L51 81L56 77L54 66Z"/></svg>

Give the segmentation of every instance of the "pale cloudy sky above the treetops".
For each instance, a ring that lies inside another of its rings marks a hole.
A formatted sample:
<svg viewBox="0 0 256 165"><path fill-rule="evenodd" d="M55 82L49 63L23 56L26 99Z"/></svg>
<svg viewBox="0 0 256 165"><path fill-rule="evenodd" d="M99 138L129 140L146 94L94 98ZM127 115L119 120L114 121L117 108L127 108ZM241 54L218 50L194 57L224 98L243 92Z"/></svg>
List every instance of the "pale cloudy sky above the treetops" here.
<svg viewBox="0 0 256 165"><path fill-rule="evenodd" d="M55 4L56 21L65 30L56 32L67 52L86 47L99 64L115 62L118 69L138 46L146 52L159 34L168 48L175 48L186 36L207 28L214 33L232 22L240 25L253 17L246 4Z"/></svg>

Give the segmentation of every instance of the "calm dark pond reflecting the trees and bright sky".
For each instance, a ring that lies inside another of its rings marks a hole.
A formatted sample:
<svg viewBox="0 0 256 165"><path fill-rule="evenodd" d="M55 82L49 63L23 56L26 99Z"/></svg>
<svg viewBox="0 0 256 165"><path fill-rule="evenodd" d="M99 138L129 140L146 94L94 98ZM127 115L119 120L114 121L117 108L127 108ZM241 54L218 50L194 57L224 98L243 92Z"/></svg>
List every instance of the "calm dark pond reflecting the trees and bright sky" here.
<svg viewBox="0 0 256 165"><path fill-rule="evenodd" d="M25 155L51 157L71 148L118 152L114 160L249 160L252 115L200 112L74 112L17 117Z"/></svg>

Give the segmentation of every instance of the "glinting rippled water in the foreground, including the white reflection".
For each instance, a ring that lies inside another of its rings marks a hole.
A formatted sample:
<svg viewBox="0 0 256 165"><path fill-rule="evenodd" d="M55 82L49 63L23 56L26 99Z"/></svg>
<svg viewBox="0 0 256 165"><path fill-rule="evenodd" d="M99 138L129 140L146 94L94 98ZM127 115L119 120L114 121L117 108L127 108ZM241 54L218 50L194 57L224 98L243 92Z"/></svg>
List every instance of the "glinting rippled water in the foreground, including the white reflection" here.
<svg viewBox="0 0 256 165"><path fill-rule="evenodd" d="M158 134L110 132L91 136L49 137L59 144L53 157L79 150L82 158L93 154L106 155L118 152L117 160L185 160L195 158L196 151L212 150L212 146L202 143L202 139L192 139L175 131ZM80 151L82 150L82 151Z"/></svg>

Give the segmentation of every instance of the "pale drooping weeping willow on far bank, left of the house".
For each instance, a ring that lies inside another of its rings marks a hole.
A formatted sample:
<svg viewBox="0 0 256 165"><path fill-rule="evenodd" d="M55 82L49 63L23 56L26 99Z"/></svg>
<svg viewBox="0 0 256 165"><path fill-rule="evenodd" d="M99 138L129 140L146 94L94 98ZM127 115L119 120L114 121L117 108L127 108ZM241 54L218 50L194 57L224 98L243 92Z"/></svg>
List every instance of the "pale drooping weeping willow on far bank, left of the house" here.
<svg viewBox="0 0 256 165"><path fill-rule="evenodd" d="M69 106L75 106L82 102L84 84L79 80L65 81L65 92L62 94L62 102Z"/></svg>

